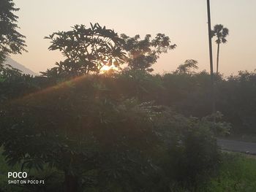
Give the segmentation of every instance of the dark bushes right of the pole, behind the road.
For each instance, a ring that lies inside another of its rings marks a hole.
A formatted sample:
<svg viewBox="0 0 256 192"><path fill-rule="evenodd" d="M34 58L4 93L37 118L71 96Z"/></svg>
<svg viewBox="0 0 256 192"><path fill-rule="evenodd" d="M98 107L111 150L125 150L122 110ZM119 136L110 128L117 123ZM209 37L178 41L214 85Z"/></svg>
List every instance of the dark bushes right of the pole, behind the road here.
<svg viewBox="0 0 256 192"><path fill-rule="evenodd" d="M217 104L236 134L256 134L256 73L239 72L218 82Z"/></svg>

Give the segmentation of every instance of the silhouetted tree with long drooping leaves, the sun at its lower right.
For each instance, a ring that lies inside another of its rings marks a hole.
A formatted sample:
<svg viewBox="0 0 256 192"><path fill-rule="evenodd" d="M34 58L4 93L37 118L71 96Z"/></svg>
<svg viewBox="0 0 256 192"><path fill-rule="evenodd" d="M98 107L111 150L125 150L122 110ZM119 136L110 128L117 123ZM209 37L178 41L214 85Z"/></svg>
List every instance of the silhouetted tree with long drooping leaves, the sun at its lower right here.
<svg viewBox="0 0 256 192"><path fill-rule="evenodd" d="M60 50L66 59L42 74L75 77L99 73L102 66L119 66L124 62L121 39L115 31L99 26L99 23L91 23L90 28L84 25L72 28L72 31L59 31L45 37L51 40L48 49Z"/></svg>

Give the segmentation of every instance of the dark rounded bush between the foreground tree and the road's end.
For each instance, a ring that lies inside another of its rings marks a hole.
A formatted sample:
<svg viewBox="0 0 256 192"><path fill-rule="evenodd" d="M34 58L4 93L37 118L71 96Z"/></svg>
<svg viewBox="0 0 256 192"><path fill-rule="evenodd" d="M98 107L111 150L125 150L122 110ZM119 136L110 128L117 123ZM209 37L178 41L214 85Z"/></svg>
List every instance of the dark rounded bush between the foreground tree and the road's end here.
<svg viewBox="0 0 256 192"><path fill-rule="evenodd" d="M199 183L208 180L219 164L219 151L211 130L214 123L184 118L170 110L161 118L157 120L161 130L159 136L165 142L167 155L159 155L162 177L155 191L176 191L178 188L193 191Z"/></svg>

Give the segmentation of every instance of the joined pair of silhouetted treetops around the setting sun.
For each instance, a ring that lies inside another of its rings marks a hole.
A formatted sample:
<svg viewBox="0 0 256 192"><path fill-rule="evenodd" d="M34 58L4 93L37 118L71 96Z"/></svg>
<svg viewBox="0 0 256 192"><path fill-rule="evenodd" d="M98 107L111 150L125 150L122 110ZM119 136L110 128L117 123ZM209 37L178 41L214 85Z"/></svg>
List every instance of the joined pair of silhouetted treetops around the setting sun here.
<svg viewBox="0 0 256 192"><path fill-rule="evenodd" d="M99 73L103 66L120 66L126 63L130 69L152 72L151 66L157 62L161 53L173 50L165 34L157 34L153 39L147 34L128 37L99 26L87 28L75 25L71 31L58 31L45 39L51 40L49 50L60 50L66 58L56 63L56 67L42 72L48 77L75 77L82 74Z"/></svg>

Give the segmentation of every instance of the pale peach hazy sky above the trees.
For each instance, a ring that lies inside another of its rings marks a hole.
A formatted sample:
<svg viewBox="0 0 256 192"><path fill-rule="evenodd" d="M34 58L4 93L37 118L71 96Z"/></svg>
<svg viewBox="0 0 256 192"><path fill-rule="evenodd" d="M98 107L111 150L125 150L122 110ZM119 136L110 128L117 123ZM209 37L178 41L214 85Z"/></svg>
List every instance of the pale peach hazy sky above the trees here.
<svg viewBox="0 0 256 192"><path fill-rule="evenodd" d="M169 72L186 59L209 69L206 0L14 0L20 32L29 53L12 55L34 72L45 71L61 60L59 51L49 51L43 37L69 30L75 24L99 23L129 36L164 33L178 47L162 55L155 72ZM230 29L227 44L220 47L219 70L225 75L256 69L256 1L211 0L212 26ZM214 66L217 45L214 48ZM214 67L215 70L215 67Z"/></svg>

